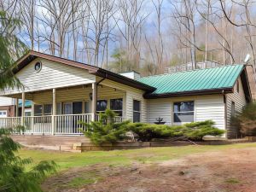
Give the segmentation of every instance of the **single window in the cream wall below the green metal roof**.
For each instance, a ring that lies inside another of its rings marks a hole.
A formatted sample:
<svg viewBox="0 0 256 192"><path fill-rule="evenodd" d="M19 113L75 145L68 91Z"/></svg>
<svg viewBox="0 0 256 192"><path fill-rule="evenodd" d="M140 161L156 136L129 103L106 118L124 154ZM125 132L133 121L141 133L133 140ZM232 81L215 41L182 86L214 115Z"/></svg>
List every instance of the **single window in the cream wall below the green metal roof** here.
<svg viewBox="0 0 256 192"><path fill-rule="evenodd" d="M173 103L174 123L194 121L194 102Z"/></svg>

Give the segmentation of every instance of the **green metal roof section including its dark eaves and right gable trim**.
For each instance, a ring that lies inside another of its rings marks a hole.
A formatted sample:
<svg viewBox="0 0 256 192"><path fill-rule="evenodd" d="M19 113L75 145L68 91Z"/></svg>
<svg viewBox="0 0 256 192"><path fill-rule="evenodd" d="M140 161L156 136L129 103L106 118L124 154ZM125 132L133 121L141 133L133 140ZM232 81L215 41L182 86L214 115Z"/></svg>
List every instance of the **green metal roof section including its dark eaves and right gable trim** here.
<svg viewBox="0 0 256 192"><path fill-rule="evenodd" d="M148 98L191 96L213 93L233 92L234 84L241 75L242 85L247 100L251 93L247 82L247 73L244 65L228 65L196 69L193 71L148 76L139 79L143 84L154 86L156 90L146 95Z"/></svg>

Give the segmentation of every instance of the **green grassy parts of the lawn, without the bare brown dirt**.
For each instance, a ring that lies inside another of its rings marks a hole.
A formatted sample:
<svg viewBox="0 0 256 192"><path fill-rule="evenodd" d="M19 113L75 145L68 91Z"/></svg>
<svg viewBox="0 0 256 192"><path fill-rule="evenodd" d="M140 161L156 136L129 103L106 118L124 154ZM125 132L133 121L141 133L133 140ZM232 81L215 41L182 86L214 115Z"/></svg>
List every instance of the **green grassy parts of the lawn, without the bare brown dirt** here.
<svg viewBox="0 0 256 192"><path fill-rule="evenodd" d="M184 146L184 147L164 147L164 148L140 148L132 150L114 150L114 151L90 151L82 154L54 152L44 150L20 149L21 158L32 158L33 163L41 160L54 160L58 165L58 171L62 172L71 168L83 166L93 166L101 164L102 166L130 166L133 163L150 164L163 160L173 160L183 158L189 154L199 154L214 152L232 148L255 148L256 143L240 143L230 145L206 145L206 146ZM27 167L28 169L30 167ZM79 189L87 184L97 183L104 180L103 175L94 170L78 172L73 177L68 177L65 181L56 182L52 189ZM228 178L225 183L240 183L236 178Z"/></svg>

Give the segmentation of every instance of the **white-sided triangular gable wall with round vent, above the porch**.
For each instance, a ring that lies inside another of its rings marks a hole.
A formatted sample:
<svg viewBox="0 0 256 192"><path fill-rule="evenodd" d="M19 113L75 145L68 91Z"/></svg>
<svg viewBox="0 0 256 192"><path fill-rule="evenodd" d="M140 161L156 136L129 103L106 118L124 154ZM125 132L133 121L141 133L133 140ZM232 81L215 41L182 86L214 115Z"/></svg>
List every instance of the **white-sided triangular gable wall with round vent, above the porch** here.
<svg viewBox="0 0 256 192"><path fill-rule="evenodd" d="M42 62L40 72L34 70L36 62ZM79 84L91 84L95 82L95 75L87 73L86 70L78 67L63 65L58 62L38 59L32 61L15 75L24 85L25 92L38 90L49 90L53 88L61 88L74 86ZM21 90L5 90L0 92L0 96L20 93Z"/></svg>

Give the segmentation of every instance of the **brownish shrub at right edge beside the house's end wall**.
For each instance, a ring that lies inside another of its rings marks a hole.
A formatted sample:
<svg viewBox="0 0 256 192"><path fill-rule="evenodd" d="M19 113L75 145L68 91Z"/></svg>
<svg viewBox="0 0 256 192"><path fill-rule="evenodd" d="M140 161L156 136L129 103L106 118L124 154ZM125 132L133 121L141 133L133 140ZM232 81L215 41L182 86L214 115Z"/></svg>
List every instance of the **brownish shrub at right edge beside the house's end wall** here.
<svg viewBox="0 0 256 192"><path fill-rule="evenodd" d="M246 136L256 136L256 103L248 103L241 113L231 118L231 125Z"/></svg>

